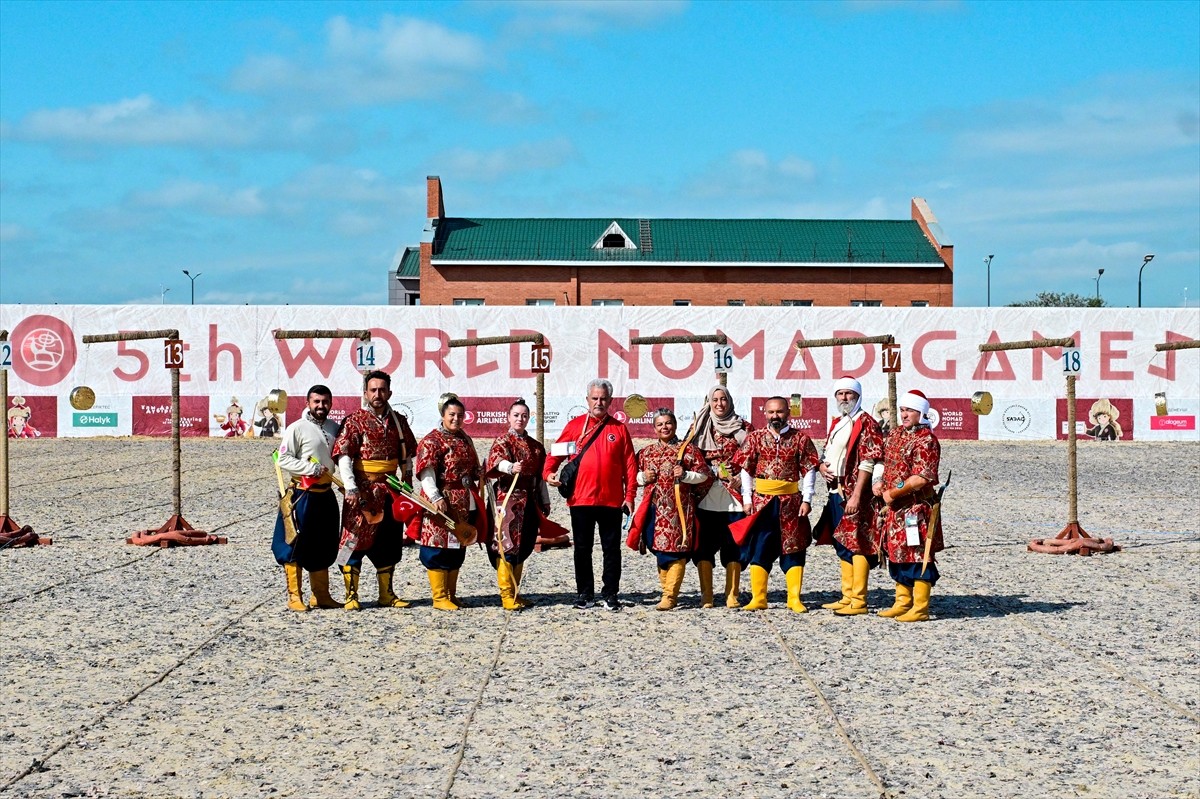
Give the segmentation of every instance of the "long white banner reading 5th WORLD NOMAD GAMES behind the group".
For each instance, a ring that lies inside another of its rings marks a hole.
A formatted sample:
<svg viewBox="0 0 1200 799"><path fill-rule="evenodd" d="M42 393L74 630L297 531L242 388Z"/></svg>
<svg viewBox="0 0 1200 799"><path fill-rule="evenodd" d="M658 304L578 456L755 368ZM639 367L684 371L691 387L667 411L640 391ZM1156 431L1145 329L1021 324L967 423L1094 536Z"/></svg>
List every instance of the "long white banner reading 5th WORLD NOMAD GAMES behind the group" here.
<svg viewBox="0 0 1200 799"><path fill-rule="evenodd" d="M877 346L797 350L798 338L890 334L900 346L899 390L923 391L943 438L1049 439L1066 434L1061 349L983 355L984 342L1074 336L1080 361L1078 423L1097 439L1200 440L1200 352L1156 353L1154 344L1200 338L1194 308L841 308L841 307L398 307L398 306L0 306L10 331L10 435L163 435L169 432L170 377L162 341L83 344L84 335L178 329L184 432L270 434L283 419L264 409L272 389L290 395L295 416L313 384L328 385L336 414L358 407L359 359L392 374L392 402L421 434L437 423L436 398L454 391L467 403L468 431L503 428L516 396L533 407L530 344L450 349L452 338L541 332L551 344L546 432L582 413L589 379L677 409L686 423L715 383L712 344L634 347L634 336L728 337L728 385L743 415L757 421L772 395L804 397L797 426L823 438L830 390L858 378L864 407L887 396ZM280 341L272 331L372 331L353 340ZM364 362L364 367L370 366ZM1072 364L1074 366L1074 364ZM89 386L88 411L67 401ZM995 409L971 413L970 397L990 391ZM1157 402L1163 394L1165 402ZM19 402L18 402L19 398ZM257 422L257 423L256 423ZM635 420L634 434L650 434Z"/></svg>

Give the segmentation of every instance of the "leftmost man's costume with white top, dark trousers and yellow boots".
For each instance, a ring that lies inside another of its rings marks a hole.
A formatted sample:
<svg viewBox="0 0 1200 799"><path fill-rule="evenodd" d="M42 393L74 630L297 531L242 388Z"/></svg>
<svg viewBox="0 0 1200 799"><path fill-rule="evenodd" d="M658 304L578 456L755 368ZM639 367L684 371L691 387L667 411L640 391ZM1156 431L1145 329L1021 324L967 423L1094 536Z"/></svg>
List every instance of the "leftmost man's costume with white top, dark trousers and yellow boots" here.
<svg viewBox="0 0 1200 799"><path fill-rule="evenodd" d="M275 536L271 552L283 566L288 579L288 607L305 611L307 607L342 607L329 595L329 567L337 557L338 527L337 497L332 489L330 474L334 465L332 444L337 438L337 423L326 419L318 422L306 410L304 417L292 422L283 431L280 441L278 464L292 475L292 507L296 522L296 537L288 543L283 524L283 511L275 519ZM312 458L316 458L313 463ZM325 473L317 476L320 468ZM306 606L300 597L300 570L308 572L312 599Z"/></svg>

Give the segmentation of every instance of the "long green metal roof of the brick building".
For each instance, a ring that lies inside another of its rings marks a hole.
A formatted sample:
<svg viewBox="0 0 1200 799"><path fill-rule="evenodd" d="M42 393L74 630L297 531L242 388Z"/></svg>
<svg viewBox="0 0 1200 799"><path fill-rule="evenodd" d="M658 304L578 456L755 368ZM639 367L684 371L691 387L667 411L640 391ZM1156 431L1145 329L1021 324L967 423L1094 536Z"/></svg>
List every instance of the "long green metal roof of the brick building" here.
<svg viewBox="0 0 1200 799"><path fill-rule="evenodd" d="M635 250L595 250L616 222ZM650 247L642 227L648 223ZM440 221L433 259L587 263L942 263L911 220L479 220Z"/></svg>

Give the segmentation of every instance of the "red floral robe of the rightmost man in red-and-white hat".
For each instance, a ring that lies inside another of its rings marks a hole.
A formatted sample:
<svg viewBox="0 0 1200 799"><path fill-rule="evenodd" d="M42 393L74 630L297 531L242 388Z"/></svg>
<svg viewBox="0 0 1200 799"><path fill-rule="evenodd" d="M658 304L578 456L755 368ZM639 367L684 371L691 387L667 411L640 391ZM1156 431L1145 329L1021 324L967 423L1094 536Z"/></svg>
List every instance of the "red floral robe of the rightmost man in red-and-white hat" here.
<svg viewBox="0 0 1200 799"><path fill-rule="evenodd" d="M929 486L899 499L892 507L883 505L878 515L880 548L893 563L920 563L925 558L925 536L929 535L929 500L937 485L937 467L942 459L942 445L934 431L925 426L912 429L898 428L888 433L883 444L883 487L895 488L917 474L929 480ZM905 515L917 515L920 543L906 543ZM942 525L934 530L931 552L942 551ZM934 559L930 558L930 563Z"/></svg>

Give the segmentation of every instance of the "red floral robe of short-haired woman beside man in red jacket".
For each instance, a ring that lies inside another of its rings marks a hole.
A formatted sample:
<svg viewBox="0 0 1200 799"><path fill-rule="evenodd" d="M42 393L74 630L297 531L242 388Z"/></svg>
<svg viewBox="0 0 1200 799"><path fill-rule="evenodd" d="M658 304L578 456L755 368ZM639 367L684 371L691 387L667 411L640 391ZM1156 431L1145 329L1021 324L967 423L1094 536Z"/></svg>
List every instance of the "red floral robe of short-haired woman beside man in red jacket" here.
<svg viewBox="0 0 1200 799"><path fill-rule="evenodd" d="M678 459L678 445L655 441L637 453L638 471L654 469L658 473L655 481L644 486L642 492L642 505L646 503L653 505L648 511L654 515L654 533L649 545L654 552L691 552L696 548L696 541L700 537L696 503L708 493L708 488L713 485L713 476L708 471L704 455L700 450L689 444L684 447L682 462ZM696 471L704 475L703 482L679 483L679 503L688 517L686 546L683 542L679 510L674 501L674 476L672 473L677 462L682 463L684 471ZM646 511L638 510L638 516L643 516Z"/></svg>

